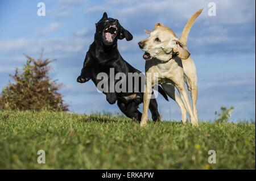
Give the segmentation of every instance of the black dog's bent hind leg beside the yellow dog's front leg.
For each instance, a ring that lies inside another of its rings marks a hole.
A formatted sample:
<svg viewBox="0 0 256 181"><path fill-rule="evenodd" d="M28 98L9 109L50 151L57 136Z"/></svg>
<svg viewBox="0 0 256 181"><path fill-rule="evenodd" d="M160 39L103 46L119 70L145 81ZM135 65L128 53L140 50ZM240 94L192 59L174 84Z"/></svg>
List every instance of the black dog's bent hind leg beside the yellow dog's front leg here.
<svg viewBox="0 0 256 181"><path fill-rule="evenodd" d="M124 104L120 100L117 100L117 105L119 109L130 119L133 119L135 121L141 121L142 113L139 112L138 104L135 102L131 102L129 104Z"/></svg>

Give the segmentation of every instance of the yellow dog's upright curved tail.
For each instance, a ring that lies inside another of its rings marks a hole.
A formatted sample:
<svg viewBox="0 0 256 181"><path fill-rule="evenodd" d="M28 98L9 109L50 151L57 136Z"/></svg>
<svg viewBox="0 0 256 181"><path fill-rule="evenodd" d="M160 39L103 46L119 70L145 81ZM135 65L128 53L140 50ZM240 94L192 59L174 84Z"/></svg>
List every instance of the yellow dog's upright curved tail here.
<svg viewBox="0 0 256 181"><path fill-rule="evenodd" d="M184 27L184 29L181 33L181 36L180 36L180 43L183 44L184 46L187 45L188 33L190 32L191 27L195 23L197 16L199 16L202 11L203 11L203 9L196 11L196 13L192 15L192 17L188 20L188 23Z"/></svg>

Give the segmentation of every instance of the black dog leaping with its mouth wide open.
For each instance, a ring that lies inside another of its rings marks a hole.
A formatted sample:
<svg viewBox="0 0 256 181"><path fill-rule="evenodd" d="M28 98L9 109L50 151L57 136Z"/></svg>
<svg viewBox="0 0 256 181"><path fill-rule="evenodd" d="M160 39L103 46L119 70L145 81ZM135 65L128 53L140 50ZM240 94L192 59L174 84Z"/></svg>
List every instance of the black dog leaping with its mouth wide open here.
<svg viewBox="0 0 256 181"><path fill-rule="evenodd" d="M84 83L92 79L97 86L101 81L101 79L97 79L98 73L104 72L109 75L110 68L114 68L115 74L125 73L125 75L128 75L128 73L141 73L141 71L133 68L133 66L123 60L119 54L117 40L124 38L130 41L133 39L133 36L119 24L117 19L108 18L108 15L104 12L101 20L96 23L94 41L86 53L84 66L81 75L77 78L77 82ZM141 79L139 80L139 85L141 85ZM114 85L116 82L117 80L115 80ZM135 90L139 90L139 92ZM143 93L140 86L134 86L133 92L110 92L109 89L102 92L106 95L106 100L110 104L117 102L118 107L127 117L141 121L142 113L138 111L138 106L143 102ZM159 92L168 100L162 87L159 87ZM160 120L158 104L155 99L150 100L149 108L152 113L152 119L154 121Z"/></svg>

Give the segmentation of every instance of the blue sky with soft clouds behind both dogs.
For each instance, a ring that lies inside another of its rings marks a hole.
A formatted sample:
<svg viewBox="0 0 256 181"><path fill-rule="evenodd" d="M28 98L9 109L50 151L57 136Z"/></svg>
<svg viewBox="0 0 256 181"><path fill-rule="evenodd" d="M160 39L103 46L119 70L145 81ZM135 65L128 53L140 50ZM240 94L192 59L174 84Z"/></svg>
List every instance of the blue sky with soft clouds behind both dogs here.
<svg viewBox="0 0 256 181"><path fill-rule="evenodd" d="M38 16L37 4L46 4L46 16ZM216 16L208 15L208 3L216 3ZM90 81L76 82L82 62L93 41L95 24L103 12L129 30L134 39L121 40L123 58L144 71L138 41L155 23L163 23L179 36L190 16L204 8L188 38L188 49L197 67L199 117L213 120L221 106L234 106L233 121L255 120L255 1L30 1L0 2L0 89L9 74L26 61L23 53L37 58L57 58L51 76L64 83L61 92L72 112L121 113L97 92ZM164 119L180 120L177 104L158 97ZM142 105L141 105L142 107Z"/></svg>

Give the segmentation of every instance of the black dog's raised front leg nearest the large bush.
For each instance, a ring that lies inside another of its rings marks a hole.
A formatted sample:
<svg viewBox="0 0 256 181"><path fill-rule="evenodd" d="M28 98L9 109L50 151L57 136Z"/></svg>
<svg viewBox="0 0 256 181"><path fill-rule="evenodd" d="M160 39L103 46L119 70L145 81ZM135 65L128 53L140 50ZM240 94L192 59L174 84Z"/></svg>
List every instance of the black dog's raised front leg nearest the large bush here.
<svg viewBox="0 0 256 181"><path fill-rule="evenodd" d="M84 59L84 65L82 66L81 74L77 77L77 82L84 83L90 80L91 73L90 68L93 66L93 58L89 53L86 53Z"/></svg>

